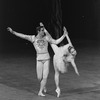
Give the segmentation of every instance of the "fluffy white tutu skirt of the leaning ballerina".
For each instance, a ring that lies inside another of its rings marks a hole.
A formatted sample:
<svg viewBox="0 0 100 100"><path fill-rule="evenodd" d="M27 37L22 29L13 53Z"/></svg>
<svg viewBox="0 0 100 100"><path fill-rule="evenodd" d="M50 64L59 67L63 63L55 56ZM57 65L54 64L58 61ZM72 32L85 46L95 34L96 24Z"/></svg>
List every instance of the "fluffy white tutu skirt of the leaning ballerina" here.
<svg viewBox="0 0 100 100"><path fill-rule="evenodd" d="M53 58L53 63L54 63L54 68L55 70L60 71L61 73L65 73L67 72L67 67L68 67L68 63L64 62L64 58L63 57L59 57L58 55L54 55Z"/></svg>

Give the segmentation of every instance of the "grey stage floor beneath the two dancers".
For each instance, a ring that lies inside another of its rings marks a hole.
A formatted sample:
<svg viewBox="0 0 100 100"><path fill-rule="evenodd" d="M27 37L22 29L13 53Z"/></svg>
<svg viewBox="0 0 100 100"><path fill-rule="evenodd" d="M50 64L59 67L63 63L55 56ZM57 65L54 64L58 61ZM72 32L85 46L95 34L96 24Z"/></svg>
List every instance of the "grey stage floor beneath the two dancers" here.
<svg viewBox="0 0 100 100"><path fill-rule="evenodd" d="M0 100L100 100L100 48L77 49L76 65L60 75L61 96L55 93L52 58L46 97L37 96L35 57L28 55L2 55L0 57Z"/></svg>

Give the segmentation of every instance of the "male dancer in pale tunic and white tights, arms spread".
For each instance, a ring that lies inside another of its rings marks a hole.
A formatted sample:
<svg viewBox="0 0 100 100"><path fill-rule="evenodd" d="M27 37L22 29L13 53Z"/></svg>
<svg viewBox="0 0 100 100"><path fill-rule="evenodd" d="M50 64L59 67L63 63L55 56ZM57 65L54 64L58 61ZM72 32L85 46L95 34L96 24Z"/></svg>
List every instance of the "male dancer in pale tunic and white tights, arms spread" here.
<svg viewBox="0 0 100 100"><path fill-rule="evenodd" d="M58 44L63 40L65 35L63 34L61 38L54 40L50 35L46 34L47 30L44 28L42 23L40 23L40 26L37 27L37 36L18 33L13 31L10 27L8 27L7 29L12 34L33 43L33 46L35 47L37 53L37 66L36 66L37 78L40 81L40 90L38 95L45 96L42 91L44 90L44 92L46 92L45 87L46 87L47 77L49 74L50 55L48 52L48 42L52 44Z"/></svg>

